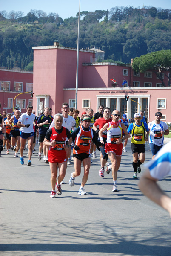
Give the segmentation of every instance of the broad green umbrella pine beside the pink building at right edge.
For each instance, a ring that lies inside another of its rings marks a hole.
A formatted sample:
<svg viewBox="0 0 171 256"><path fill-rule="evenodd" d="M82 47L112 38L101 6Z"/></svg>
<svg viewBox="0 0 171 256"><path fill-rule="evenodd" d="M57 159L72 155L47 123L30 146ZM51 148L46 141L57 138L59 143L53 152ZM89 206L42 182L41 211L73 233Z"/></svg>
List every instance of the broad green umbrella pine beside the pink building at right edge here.
<svg viewBox="0 0 171 256"><path fill-rule="evenodd" d="M171 50L162 50L148 53L134 59L132 68L135 71L144 73L147 70L154 70L156 76L166 86L162 79L162 72L168 77L168 86L171 86Z"/></svg>

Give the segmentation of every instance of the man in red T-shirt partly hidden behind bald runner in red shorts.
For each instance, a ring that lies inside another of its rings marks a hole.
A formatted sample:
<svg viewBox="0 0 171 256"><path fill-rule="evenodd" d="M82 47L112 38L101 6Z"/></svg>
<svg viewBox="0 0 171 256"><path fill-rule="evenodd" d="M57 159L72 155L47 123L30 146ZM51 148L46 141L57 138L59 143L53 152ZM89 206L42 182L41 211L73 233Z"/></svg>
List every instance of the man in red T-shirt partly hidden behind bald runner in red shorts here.
<svg viewBox="0 0 171 256"><path fill-rule="evenodd" d="M108 108L108 107L104 108L103 114L104 114L104 117L97 119L96 122L94 123L94 125L93 125L94 131L98 131L97 130L97 125L99 125L99 129L101 129L101 128L103 128L103 126L105 124L112 121L112 118L110 118L110 115L111 115L110 108ZM101 154L101 157L100 157L101 167L100 167L100 170L99 170L99 176L101 178L105 177L105 175L104 175L105 164L108 160L108 154L105 152L105 143L106 143L106 140L107 140L107 130L103 131L102 137L103 137L104 144L102 145L102 147L100 147L100 151L101 151L102 154Z"/></svg>

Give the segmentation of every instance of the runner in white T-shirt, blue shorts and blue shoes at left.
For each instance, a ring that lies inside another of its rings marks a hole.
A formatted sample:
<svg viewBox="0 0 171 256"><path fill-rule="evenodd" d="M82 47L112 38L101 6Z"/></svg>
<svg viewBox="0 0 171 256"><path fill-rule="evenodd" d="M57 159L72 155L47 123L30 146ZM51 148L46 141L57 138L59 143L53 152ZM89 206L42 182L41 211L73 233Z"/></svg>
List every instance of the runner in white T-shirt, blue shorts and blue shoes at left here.
<svg viewBox="0 0 171 256"><path fill-rule="evenodd" d="M23 113L18 122L17 126L20 127L20 141L21 141L21 147L20 147L20 163L24 164L24 158L23 158L23 150L26 144L26 141L28 139L28 166L31 166L31 156L33 152L33 136L34 136L34 129L33 125L36 125L34 120L36 119L36 116L32 114L33 106L28 105L27 106L27 112Z"/></svg>

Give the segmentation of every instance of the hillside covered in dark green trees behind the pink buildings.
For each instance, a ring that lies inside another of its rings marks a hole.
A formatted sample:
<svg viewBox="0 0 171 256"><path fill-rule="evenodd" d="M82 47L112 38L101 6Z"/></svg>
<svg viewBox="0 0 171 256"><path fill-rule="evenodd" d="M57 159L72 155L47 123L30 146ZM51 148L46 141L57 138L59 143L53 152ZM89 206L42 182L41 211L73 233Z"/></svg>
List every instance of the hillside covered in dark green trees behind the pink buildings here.
<svg viewBox="0 0 171 256"><path fill-rule="evenodd" d="M131 58L171 49L171 9L116 6L80 13L80 48L96 46L105 60L130 63ZM62 19L41 10L0 12L0 67L33 69L32 46L77 48L78 13Z"/></svg>

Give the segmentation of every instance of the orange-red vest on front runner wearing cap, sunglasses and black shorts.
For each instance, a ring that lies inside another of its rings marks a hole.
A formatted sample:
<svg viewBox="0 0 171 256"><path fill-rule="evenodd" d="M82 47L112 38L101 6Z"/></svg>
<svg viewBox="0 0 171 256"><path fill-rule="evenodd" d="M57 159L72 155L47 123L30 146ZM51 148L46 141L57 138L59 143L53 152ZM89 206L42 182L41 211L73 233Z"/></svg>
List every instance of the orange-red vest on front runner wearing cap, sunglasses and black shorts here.
<svg viewBox="0 0 171 256"><path fill-rule="evenodd" d="M73 148L73 154L86 153L90 154L91 140L93 138L93 131L90 127L89 131L84 131L80 126L80 131L75 138L75 145L79 146L79 150Z"/></svg>

